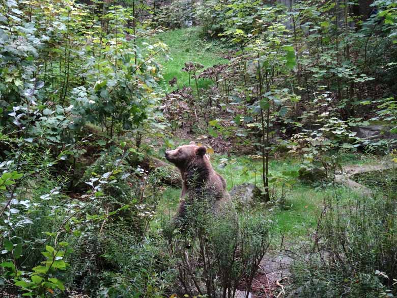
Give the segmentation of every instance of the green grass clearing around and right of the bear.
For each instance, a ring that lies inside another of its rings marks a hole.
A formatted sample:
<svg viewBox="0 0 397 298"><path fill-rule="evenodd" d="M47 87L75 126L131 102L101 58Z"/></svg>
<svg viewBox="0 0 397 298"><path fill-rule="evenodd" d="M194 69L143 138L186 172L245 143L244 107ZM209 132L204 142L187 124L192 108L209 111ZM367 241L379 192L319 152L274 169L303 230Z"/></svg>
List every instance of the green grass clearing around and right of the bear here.
<svg viewBox="0 0 397 298"><path fill-rule="evenodd" d="M353 158L353 156L350 156ZM225 161L227 159L227 161ZM372 162L372 158L356 154L357 162ZM262 186L260 159L251 159L247 156L232 156L214 154L211 156L214 169L221 174L228 183L230 190L234 185L245 182L256 183ZM222 165L223 164L223 165ZM224 166L226 164L226 166ZM273 176L280 175L284 171L298 170L300 161L296 159L272 160L270 162L270 173ZM270 185L272 187L272 185ZM172 216L179 202L181 190L179 188L167 188L163 193L162 201L159 202L158 211L161 216ZM279 189L276 197L279 195ZM350 188L342 185L326 185L326 187L315 187L297 182L286 192L287 208L279 205L258 207L253 212L260 212L268 216L274 222L275 237L285 234L287 240L297 240L313 232L317 226L324 199L337 197L340 201L348 201L357 196Z"/></svg>

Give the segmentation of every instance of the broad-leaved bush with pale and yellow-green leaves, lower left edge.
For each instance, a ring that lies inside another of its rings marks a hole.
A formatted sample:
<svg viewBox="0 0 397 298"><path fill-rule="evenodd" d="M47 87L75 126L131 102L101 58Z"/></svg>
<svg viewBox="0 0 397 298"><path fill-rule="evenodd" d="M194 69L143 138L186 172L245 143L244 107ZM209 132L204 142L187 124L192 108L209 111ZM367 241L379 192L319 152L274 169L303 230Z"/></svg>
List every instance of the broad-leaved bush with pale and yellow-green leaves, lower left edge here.
<svg viewBox="0 0 397 298"><path fill-rule="evenodd" d="M0 226L0 274L13 281L4 285L6 291L19 288L25 295L40 297L59 293L65 289L69 266L68 238L75 236L73 228L65 229L66 219L79 204L63 200L64 177L52 176L55 160L49 150L43 154L32 146L17 156L0 164L0 214L5 223Z"/></svg>

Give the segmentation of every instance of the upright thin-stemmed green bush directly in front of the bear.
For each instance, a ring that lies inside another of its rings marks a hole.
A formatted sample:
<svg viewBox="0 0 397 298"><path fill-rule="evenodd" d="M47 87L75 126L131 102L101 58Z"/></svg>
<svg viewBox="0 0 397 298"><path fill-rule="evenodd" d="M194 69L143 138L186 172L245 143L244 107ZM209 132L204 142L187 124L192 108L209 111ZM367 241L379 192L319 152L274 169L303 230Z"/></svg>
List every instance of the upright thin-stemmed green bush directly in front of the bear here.
<svg viewBox="0 0 397 298"><path fill-rule="evenodd" d="M232 207L220 214L210 209L208 200L193 200L183 230L163 229L178 272L177 293L234 297L243 280L250 291L269 247L269 222L248 213L238 216Z"/></svg>

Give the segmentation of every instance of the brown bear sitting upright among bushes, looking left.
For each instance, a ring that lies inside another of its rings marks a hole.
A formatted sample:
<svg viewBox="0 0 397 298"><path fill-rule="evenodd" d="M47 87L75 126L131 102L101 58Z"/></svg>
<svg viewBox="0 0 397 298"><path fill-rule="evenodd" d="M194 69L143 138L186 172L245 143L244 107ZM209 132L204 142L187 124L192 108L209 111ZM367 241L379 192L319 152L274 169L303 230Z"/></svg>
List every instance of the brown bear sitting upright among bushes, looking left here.
<svg viewBox="0 0 397 298"><path fill-rule="evenodd" d="M186 200L193 196L212 199L214 210L219 210L230 201L226 181L212 168L206 153L205 146L199 147L194 142L165 152L165 158L181 171L182 176L182 193L177 218L185 216Z"/></svg>

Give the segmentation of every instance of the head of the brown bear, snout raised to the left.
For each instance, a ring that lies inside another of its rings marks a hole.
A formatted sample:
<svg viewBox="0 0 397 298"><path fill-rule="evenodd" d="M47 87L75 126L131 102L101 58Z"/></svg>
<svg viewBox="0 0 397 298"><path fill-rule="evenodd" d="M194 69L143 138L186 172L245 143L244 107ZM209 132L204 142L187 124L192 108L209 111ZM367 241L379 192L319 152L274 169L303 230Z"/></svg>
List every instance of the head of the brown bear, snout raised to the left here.
<svg viewBox="0 0 397 298"><path fill-rule="evenodd" d="M192 161L200 159L208 159L206 155L207 148L205 146L197 146L194 142L190 142L189 145L179 146L175 150L165 151L165 158L172 162L179 169L186 169Z"/></svg>

